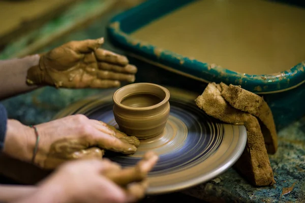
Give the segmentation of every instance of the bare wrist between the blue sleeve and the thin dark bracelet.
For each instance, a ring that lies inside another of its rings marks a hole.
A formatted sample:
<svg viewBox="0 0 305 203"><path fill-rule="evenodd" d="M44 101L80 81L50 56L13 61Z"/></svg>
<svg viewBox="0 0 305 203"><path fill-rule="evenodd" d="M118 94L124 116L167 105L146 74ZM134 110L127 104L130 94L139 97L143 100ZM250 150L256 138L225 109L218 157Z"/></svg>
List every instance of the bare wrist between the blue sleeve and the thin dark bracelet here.
<svg viewBox="0 0 305 203"><path fill-rule="evenodd" d="M7 121L7 132L3 152L7 155L29 162L36 144L35 131L17 120Z"/></svg>

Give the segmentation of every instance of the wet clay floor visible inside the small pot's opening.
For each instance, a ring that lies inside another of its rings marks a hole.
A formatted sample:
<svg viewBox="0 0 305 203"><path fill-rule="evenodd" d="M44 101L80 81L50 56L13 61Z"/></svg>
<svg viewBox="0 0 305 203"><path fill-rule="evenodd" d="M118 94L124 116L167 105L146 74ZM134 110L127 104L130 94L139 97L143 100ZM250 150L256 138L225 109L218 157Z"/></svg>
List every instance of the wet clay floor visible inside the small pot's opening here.
<svg viewBox="0 0 305 203"><path fill-rule="evenodd" d="M124 98L121 104L128 107L149 107L157 105L161 101L162 99L153 94L134 94Z"/></svg>

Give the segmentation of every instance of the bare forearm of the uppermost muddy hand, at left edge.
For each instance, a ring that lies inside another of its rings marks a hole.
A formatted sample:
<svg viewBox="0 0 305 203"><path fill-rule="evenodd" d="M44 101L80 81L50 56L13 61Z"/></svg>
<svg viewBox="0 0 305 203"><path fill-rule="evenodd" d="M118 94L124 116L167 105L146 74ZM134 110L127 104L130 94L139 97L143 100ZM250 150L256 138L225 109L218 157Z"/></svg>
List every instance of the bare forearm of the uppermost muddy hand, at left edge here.
<svg viewBox="0 0 305 203"><path fill-rule="evenodd" d="M30 67L39 65L39 59L36 54L0 61L0 100L38 88L26 84L26 75Z"/></svg>

